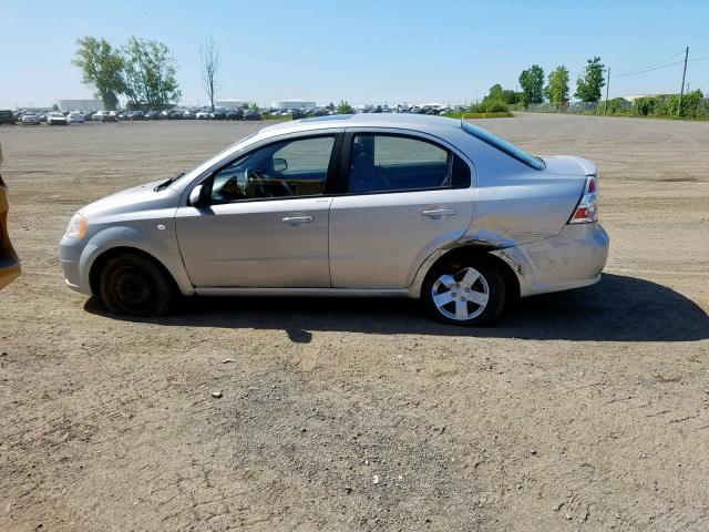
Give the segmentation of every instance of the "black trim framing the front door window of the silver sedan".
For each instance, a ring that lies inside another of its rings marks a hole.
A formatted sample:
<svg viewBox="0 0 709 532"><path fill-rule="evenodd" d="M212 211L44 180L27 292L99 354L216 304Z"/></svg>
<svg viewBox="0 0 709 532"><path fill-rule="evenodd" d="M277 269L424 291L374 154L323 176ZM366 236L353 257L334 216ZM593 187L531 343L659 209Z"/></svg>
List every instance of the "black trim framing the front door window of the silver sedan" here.
<svg viewBox="0 0 709 532"><path fill-rule="evenodd" d="M234 205L234 204L240 204L240 203L274 202L274 201L282 201L282 200L300 200L300 198L331 196L333 194L330 191L332 191L336 187L339 178L339 175L338 175L340 170L339 160L342 151L343 136L345 136L345 133L342 131L338 131L338 132L330 131L327 133L314 132L314 134L308 134L308 135L297 134L297 135L287 136L287 137L269 139L266 142L259 143L258 145L254 145L250 150L235 153L233 157L228 157L227 161L224 161L220 164L218 164L215 168L209 170L206 176L203 180L198 180L197 182L195 182L195 184L192 187L189 187L189 190L198 185L203 185L206 187L206 190L203 192L205 194L205 197L207 198L207 202L204 205L206 207L212 207L214 205ZM328 168L325 175L325 182L322 184L322 192L320 194L307 194L302 196L253 197L253 198L245 198L245 200L234 200L232 202L224 202L224 203L213 202L212 187L214 185L215 176L227 166L230 166L232 164L234 164L239 158L246 157L249 154L256 152L257 150L261 150L261 149L271 146L274 144L280 144L285 142L290 143L290 142L297 142L297 141L306 141L311 139L326 139L326 137L333 137L335 142L332 143L332 149L330 151L330 160L328 162ZM187 193L185 197L187 198L186 201L188 202L189 193Z"/></svg>

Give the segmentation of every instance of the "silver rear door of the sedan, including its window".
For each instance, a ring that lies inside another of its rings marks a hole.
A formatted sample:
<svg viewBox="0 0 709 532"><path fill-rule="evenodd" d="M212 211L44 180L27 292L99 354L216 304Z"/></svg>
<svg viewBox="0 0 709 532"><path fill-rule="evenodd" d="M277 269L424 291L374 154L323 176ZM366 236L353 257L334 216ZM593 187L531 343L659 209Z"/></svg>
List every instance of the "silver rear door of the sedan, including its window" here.
<svg viewBox="0 0 709 532"><path fill-rule="evenodd" d="M339 288L404 288L421 263L470 226L471 167L424 134L348 129L330 207L330 277Z"/></svg>

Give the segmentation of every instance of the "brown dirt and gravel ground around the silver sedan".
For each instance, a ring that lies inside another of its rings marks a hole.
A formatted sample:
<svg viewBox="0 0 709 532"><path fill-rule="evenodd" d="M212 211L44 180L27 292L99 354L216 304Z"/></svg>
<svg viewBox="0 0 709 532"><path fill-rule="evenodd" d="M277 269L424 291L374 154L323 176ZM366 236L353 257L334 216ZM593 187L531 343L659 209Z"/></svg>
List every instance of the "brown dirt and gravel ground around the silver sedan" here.
<svg viewBox="0 0 709 532"><path fill-rule="evenodd" d="M23 262L0 294L0 530L709 529L709 123L482 124L595 161L612 238L598 285L483 329L408 300L107 316L64 287L73 212L263 124L0 127Z"/></svg>

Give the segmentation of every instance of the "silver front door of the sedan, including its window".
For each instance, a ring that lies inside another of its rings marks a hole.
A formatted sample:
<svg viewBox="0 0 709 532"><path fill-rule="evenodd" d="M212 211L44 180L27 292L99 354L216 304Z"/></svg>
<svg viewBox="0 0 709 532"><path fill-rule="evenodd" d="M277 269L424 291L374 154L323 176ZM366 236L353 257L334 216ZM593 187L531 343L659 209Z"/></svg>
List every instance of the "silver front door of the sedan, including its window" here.
<svg viewBox="0 0 709 532"><path fill-rule="evenodd" d="M176 214L197 287L329 287L325 194L337 135L260 146L205 182L207 204Z"/></svg>

